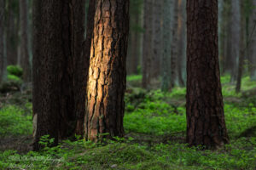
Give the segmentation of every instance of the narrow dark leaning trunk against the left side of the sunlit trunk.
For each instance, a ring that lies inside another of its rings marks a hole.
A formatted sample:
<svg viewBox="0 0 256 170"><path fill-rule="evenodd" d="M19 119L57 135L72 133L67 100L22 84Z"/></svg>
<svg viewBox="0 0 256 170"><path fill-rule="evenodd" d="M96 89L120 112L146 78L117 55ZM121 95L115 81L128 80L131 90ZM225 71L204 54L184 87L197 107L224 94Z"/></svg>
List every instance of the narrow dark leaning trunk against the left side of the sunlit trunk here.
<svg viewBox="0 0 256 170"><path fill-rule="evenodd" d="M90 64L90 45L93 37L93 26L95 16L95 1L90 0L89 10L87 13L86 39L84 42L83 53L80 55L79 62L76 64L76 74L74 75L75 82L75 106L77 115L76 134L84 135L84 113L86 86L88 79L88 69Z"/></svg>

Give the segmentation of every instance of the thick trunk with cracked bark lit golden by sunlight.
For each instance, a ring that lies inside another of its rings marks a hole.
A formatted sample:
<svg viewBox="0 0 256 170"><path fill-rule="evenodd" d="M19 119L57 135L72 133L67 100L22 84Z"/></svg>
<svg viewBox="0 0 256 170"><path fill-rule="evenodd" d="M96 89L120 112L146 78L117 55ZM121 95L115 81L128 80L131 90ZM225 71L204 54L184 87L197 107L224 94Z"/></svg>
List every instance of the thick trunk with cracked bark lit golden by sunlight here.
<svg viewBox="0 0 256 170"><path fill-rule="evenodd" d="M124 135L129 1L96 0L95 8L84 117L84 137L92 141Z"/></svg>

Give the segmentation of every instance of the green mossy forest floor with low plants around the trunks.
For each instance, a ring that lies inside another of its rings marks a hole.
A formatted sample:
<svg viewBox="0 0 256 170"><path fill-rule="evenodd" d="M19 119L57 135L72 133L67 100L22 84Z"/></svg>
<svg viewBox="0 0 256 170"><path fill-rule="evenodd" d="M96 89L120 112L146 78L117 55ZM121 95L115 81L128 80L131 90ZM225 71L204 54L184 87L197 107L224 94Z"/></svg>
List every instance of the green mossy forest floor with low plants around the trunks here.
<svg viewBox="0 0 256 170"><path fill-rule="evenodd" d="M148 92L140 82L127 77L125 138L93 144L77 137L40 152L30 151L31 90L1 94L0 169L256 169L256 82L244 77L236 94L222 77L230 144L218 150L185 144L185 88Z"/></svg>

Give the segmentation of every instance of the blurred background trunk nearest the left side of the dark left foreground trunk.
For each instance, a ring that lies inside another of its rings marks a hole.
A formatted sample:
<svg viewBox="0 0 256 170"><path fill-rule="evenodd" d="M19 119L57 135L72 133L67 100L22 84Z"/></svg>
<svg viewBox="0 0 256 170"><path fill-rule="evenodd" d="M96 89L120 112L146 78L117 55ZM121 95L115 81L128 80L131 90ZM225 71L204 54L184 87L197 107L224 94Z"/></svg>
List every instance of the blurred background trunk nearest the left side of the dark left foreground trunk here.
<svg viewBox="0 0 256 170"><path fill-rule="evenodd" d="M24 82L31 81L31 66L28 54L28 6L27 0L20 1L20 64Z"/></svg>

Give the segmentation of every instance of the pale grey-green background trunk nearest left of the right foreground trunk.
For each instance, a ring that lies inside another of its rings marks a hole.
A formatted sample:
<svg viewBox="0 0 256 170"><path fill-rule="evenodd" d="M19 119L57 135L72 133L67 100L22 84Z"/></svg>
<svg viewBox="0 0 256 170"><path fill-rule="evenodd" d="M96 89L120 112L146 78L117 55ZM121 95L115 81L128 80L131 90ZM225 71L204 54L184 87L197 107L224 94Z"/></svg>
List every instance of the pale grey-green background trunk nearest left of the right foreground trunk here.
<svg viewBox="0 0 256 170"><path fill-rule="evenodd" d="M163 54L162 54L162 91L167 91L170 85L169 69L171 63L171 16L172 0L163 1Z"/></svg>

